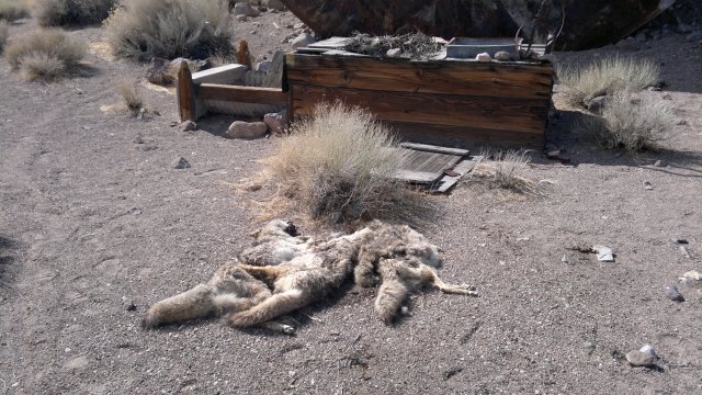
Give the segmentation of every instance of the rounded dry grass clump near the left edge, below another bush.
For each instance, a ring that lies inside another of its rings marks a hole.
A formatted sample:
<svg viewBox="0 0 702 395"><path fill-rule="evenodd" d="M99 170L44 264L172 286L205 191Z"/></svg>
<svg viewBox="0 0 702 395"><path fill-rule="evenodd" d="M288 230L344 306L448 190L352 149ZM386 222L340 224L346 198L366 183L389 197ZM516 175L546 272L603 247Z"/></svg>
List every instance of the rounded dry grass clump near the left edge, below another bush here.
<svg viewBox="0 0 702 395"><path fill-rule="evenodd" d="M86 56L87 45L60 30L39 30L14 38L4 56L13 70L27 80L57 79L73 71Z"/></svg>

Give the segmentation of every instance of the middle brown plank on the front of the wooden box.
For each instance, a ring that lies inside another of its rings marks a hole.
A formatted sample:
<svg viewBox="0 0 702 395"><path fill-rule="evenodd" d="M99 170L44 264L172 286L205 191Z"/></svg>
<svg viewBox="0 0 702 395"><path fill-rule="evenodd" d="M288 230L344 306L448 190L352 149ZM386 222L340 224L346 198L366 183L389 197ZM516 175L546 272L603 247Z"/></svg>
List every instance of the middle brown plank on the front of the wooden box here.
<svg viewBox="0 0 702 395"><path fill-rule="evenodd" d="M320 101L343 100L378 120L543 134L548 99L479 98L437 93L381 92L293 84L293 114L312 114Z"/></svg>

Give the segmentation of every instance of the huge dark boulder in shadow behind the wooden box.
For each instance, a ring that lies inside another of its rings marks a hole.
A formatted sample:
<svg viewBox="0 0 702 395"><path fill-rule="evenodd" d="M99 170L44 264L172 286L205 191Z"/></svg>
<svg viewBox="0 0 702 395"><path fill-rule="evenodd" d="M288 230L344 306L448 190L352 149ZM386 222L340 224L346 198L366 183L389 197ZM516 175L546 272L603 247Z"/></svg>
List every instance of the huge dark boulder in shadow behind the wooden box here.
<svg viewBox="0 0 702 395"><path fill-rule="evenodd" d="M281 0L316 34L348 36L414 32L452 37L512 37L520 26L530 30L541 0ZM675 0L553 0L545 15L553 33L565 27L561 49L612 44L650 21Z"/></svg>

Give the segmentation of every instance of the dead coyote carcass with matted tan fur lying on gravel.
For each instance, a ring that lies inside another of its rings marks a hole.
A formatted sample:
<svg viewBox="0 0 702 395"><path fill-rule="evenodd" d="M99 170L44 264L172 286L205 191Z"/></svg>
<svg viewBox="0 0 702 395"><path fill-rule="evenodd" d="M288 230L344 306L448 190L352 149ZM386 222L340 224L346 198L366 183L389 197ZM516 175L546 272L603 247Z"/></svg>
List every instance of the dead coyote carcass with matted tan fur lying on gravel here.
<svg viewBox="0 0 702 395"><path fill-rule="evenodd" d="M324 298L352 273L362 286L381 284L375 312L386 324L421 286L476 295L441 281L433 269L440 262L437 247L407 226L375 222L348 236L315 241L298 236L291 223L275 219L254 237L253 247L237 262L220 267L206 284L151 306L143 326L216 315L233 327L261 325L292 334L293 327L273 319Z"/></svg>

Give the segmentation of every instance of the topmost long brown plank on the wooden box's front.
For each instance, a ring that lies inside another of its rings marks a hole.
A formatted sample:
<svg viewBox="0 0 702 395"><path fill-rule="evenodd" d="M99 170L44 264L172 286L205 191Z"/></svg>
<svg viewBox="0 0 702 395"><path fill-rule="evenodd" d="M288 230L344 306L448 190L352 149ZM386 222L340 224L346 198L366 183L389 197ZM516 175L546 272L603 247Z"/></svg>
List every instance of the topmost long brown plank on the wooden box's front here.
<svg viewBox="0 0 702 395"><path fill-rule="evenodd" d="M396 92L548 98L548 64L409 61L372 57L287 54L287 78L295 83Z"/></svg>

